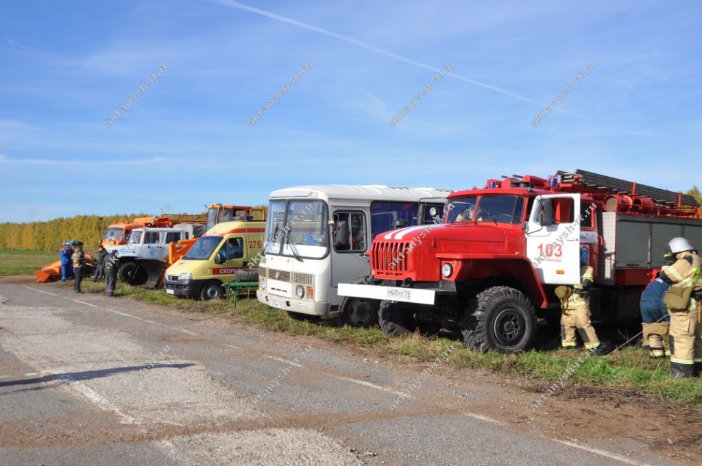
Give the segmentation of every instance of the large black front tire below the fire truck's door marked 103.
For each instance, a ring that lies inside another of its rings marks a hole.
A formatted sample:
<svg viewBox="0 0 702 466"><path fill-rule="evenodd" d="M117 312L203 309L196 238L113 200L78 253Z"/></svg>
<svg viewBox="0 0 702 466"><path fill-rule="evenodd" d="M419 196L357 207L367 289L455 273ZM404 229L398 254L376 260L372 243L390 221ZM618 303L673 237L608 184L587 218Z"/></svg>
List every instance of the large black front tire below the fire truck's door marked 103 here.
<svg viewBox="0 0 702 466"><path fill-rule="evenodd" d="M461 321L461 333L473 351L526 351L536 338L536 309L515 288L486 288L471 300Z"/></svg>

